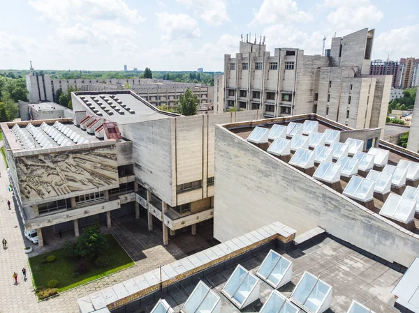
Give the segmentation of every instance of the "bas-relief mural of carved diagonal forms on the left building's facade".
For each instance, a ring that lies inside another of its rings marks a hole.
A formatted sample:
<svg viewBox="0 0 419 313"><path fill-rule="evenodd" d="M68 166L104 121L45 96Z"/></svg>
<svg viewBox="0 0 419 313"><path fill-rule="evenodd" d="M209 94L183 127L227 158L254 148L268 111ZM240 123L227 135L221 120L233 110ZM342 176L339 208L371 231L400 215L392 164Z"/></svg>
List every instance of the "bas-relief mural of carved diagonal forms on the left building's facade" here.
<svg viewBox="0 0 419 313"><path fill-rule="evenodd" d="M23 200L118 185L115 147L16 158Z"/></svg>

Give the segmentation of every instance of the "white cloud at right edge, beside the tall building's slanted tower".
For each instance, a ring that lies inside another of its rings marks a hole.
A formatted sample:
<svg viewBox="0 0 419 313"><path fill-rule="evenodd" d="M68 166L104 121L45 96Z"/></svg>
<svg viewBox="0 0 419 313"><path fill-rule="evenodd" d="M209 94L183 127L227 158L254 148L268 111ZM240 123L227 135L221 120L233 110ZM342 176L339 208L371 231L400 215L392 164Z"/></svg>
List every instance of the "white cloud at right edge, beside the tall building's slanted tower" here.
<svg viewBox="0 0 419 313"><path fill-rule="evenodd" d="M418 57L415 53L419 51L419 24L380 33L374 38L372 48L374 59L387 59L388 54L395 61L410 56Z"/></svg>

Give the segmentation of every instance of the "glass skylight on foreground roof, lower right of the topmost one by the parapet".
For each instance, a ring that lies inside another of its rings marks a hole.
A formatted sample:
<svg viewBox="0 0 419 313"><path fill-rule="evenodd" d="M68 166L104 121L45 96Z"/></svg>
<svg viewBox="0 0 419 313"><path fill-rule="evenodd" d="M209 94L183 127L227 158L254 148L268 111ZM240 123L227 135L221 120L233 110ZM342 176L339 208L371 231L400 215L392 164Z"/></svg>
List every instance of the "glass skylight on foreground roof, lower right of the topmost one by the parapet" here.
<svg viewBox="0 0 419 313"><path fill-rule="evenodd" d="M308 272L304 272L291 293L291 300L306 312L325 312L330 307L331 299L332 286Z"/></svg>

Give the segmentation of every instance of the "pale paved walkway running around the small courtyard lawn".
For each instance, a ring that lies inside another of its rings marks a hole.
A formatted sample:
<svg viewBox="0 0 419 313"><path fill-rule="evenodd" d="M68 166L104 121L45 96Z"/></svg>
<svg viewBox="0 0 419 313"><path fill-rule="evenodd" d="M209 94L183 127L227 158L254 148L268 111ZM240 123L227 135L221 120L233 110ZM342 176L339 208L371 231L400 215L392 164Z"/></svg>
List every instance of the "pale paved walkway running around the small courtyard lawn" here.
<svg viewBox="0 0 419 313"><path fill-rule="evenodd" d="M122 224L125 225L124 227L113 223L114 226L109 231L115 234L124 247L128 247L126 250L137 265L38 303L32 287L28 257L24 253L25 244L29 245L29 241L22 236L20 219L17 217L19 213L14 209L8 210L7 200L11 201L11 193L8 191L6 166L3 158L0 157L0 159L0 241L3 238L8 241L6 250L0 248L0 313L78 313L78 298L146 273L160 264L169 264L185 257L186 254L195 253L196 250L205 249L212 244L199 236L198 229L197 236L177 235L169 240L169 245L163 246L161 245L161 229L155 227L154 231L149 232L145 220L131 218L131 222ZM196 248L191 250L193 245ZM23 267L28 271L26 282L22 280ZM19 275L17 285L13 282L14 271Z"/></svg>

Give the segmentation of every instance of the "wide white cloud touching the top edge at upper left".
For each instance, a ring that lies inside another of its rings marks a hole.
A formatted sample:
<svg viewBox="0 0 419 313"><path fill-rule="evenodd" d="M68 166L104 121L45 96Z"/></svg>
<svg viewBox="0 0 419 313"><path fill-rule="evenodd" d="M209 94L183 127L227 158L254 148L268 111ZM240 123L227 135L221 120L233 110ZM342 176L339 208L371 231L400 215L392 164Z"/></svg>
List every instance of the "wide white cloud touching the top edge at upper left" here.
<svg viewBox="0 0 419 313"><path fill-rule="evenodd" d="M29 0L43 20L59 22L119 20L137 24L145 20L124 0Z"/></svg>

